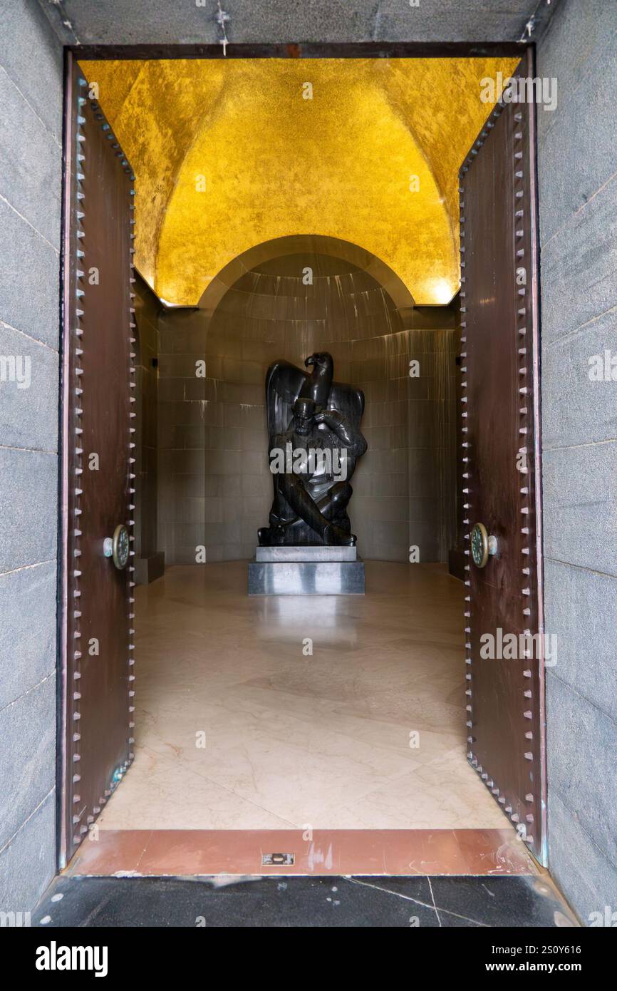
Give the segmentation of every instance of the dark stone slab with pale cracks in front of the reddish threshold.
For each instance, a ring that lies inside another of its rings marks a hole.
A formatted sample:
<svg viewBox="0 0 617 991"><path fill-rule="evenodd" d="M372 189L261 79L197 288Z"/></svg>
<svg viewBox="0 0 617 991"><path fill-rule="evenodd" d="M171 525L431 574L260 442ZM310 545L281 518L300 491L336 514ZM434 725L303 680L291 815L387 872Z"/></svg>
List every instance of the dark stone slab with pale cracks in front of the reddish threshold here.
<svg viewBox="0 0 617 991"><path fill-rule="evenodd" d="M578 923L551 882L534 877L269 877L224 884L216 878L58 877L33 913L32 925L50 930L124 926L474 929L572 928ZM460 959L458 966L463 966Z"/></svg>

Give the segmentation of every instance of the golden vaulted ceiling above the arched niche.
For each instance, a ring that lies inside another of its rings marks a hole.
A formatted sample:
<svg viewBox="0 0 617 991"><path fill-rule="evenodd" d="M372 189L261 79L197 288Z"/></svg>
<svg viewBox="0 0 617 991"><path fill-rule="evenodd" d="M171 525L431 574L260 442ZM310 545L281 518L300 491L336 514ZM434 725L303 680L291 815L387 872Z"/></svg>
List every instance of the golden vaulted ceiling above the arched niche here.
<svg viewBox="0 0 617 991"><path fill-rule="evenodd" d="M195 305L248 249L319 234L376 255L431 304L459 288L457 173L492 108L480 79L517 60L80 65L135 170L136 264L161 298Z"/></svg>

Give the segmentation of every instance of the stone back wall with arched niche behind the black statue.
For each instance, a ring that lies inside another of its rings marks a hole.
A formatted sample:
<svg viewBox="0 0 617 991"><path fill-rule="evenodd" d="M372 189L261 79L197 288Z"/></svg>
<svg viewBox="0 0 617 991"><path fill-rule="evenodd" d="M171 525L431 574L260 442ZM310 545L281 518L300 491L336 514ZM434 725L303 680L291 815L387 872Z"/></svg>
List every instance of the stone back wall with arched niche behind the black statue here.
<svg viewBox="0 0 617 991"><path fill-rule="evenodd" d="M415 545L423 560L445 561L455 350L452 310L434 307L427 319L398 276L357 245L298 235L243 253L198 309L164 317L160 384L174 396L159 423L167 564L194 562L196 547L208 561L254 556L272 496L265 372L277 359L302 366L314 351L329 351L336 378L366 397L368 450L351 503L360 554L406 561Z"/></svg>

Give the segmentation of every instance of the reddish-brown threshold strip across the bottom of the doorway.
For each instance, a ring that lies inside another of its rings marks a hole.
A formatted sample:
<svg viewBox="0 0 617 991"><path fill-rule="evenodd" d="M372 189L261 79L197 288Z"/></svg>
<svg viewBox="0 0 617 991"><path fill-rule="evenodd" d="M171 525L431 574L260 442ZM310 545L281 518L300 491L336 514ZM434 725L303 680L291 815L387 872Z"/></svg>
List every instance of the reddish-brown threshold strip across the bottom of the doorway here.
<svg viewBox="0 0 617 991"><path fill-rule="evenodd" d="M116 877L213 875L535 875L504 829L99 829L64 874Z"/></svg>

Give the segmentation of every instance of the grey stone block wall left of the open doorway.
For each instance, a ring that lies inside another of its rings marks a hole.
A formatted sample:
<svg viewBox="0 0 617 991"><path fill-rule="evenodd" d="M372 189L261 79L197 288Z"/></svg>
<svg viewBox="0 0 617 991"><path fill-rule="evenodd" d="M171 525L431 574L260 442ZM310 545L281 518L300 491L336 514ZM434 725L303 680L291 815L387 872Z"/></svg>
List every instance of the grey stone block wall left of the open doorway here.
<svg viewBox="0 0 617 991"><path fill-rule="evenodd" d="M28 912L55 870L62 57L36 4L0 33L0 910Z"/></svg>

